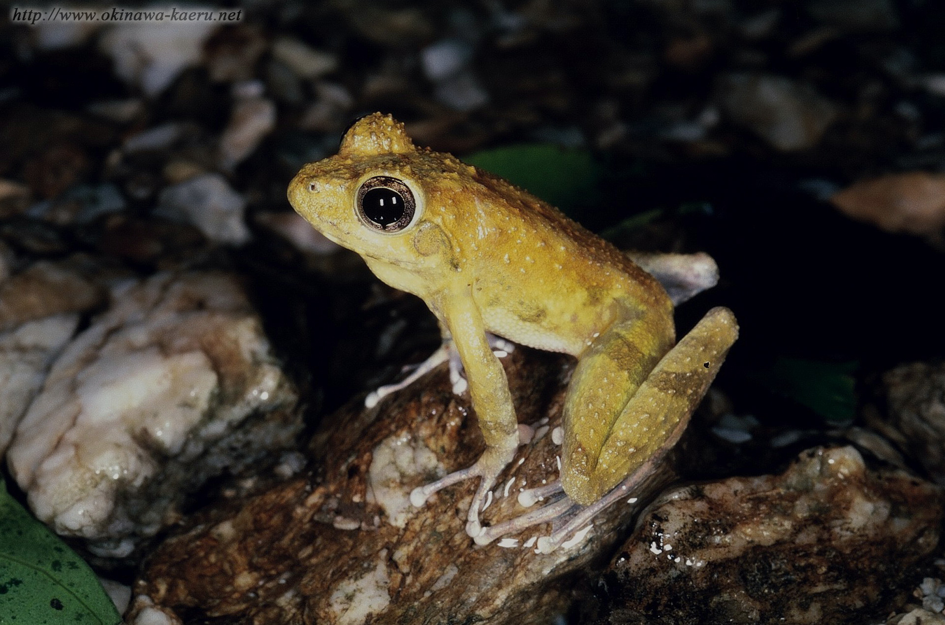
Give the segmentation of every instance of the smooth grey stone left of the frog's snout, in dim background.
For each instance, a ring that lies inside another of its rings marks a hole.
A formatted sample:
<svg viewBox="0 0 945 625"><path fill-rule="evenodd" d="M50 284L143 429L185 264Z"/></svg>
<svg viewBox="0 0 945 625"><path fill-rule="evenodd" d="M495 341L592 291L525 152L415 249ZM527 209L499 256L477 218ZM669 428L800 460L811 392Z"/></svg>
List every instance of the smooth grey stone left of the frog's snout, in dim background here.
<svg viewBox="0 0 945 625"><path fill-rule="evenodd" d="M241 245L249 240L245 208L246 200L226 178L209 173L165 188L154 215L192 223L215 243Z"/></svg>

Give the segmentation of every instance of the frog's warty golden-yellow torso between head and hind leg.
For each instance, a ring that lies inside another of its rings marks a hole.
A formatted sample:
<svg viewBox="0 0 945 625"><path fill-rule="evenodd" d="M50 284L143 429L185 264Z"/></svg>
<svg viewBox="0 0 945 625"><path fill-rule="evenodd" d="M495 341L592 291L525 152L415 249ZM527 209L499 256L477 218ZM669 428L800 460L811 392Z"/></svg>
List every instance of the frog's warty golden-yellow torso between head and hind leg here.
<svg viewBox="0 0 945 625"><path fill-rule="evenodd" d="M627 318L669 319L672 334L665 290L624 253L501 178L476 169L472 180L480 227L465 246L493 332L570 354Z"/></svg>

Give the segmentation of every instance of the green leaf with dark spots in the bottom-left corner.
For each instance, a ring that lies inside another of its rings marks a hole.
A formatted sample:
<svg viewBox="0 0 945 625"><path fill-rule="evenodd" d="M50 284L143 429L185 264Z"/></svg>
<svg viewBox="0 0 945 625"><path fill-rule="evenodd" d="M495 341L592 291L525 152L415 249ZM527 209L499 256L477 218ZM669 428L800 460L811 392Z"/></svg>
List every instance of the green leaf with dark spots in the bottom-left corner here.
<svg viewBox="0 0 945 625"><path fill-rule="evenodd" d="M89 565L26 512L0 479L0 624L120 622Z"/></svg>

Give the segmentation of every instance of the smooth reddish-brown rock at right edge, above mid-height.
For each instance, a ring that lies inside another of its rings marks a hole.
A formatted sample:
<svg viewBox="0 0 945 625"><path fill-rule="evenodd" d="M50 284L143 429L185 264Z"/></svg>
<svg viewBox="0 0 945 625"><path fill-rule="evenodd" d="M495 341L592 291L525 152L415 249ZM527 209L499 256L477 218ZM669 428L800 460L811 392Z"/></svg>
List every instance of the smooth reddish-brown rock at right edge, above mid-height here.
<svg viewBox="0 0 945 625"><path fill-rule="evenodd" d="M945 228L945 174L912 171L854 182L830 199L846 215L892 233Z"/></svg>

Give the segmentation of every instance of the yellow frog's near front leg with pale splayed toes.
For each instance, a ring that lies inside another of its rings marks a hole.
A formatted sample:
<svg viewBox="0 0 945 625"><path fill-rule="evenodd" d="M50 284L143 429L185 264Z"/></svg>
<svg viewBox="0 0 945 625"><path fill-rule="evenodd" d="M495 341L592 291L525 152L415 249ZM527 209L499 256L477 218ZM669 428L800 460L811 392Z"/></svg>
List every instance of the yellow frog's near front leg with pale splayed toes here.
<svg viewBox="0 0 945 625"><path fill-rule="evenodd" d="M475 537L482 530L479 511L496 477L515 456L519 444L519 427L508 391L506 372L499 358L492 352L486 327L478 307L472 300L471 289L461 295L451 295L448 303L438 310L466 370L472 408L479 419L479 429L486 441L486 451L479 460L466 469L456 471L435 482L414 489L410 501L420 507L427 497L439 490L471 477L481 477L472 497L467 514L466 532Z"/></svg>

